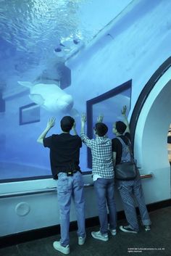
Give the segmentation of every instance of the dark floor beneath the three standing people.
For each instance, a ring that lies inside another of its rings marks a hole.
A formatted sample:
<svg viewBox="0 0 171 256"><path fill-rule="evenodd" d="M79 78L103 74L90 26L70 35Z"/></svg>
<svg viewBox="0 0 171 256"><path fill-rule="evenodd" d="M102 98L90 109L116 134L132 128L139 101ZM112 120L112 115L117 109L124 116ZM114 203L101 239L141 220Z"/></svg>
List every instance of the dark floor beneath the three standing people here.
<svg viewBox="0 0 171 256"><path fill-rule="evenodd" d="M83 246L78 245L76 231L70 232L71 256L170 256L171 255L171 207L165 207L150 212L152 221L151 231L146 232L141 227L138 234L126 234L117 231L117 236L109 235L109 241L99 241L91 237L91 231L98 231L99 227L87 228L87 239ZM125 223L120 221L118 226ZM1 256L55 256L63 255L53 247L53 241L59 235L45 239L29 241L12 247L0 249ZM130 252L129 252L130 250Z"/></svg>

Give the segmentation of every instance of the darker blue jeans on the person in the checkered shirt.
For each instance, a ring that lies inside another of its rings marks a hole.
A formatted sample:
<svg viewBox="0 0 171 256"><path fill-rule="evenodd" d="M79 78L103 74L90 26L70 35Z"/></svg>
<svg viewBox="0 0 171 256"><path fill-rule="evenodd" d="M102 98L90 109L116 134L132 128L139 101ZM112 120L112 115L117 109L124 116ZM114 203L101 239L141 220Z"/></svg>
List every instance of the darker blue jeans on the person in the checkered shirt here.
<svg viewBox="0 0 171 256"><path fill-rule="evenodd" d="M114 179L98 178L94 181L96 199L99 210L99 221L101 234L108 232L107 207L109 209L109 226L112 229L117 227L117 210L114 200Z"/></svg>

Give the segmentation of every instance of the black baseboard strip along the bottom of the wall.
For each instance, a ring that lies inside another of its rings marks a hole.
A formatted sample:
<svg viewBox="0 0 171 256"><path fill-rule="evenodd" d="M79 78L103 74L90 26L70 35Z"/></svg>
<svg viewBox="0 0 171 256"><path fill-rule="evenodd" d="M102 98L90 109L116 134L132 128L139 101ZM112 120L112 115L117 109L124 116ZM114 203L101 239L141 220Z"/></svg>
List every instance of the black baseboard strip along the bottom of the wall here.
<svg viewBox="0 0 171 256"><path fill-rule="evenodd" d="M167 199L161 202L155 202L153 204L147 205L147 209L149 212L154 210L159 210L160 208L169 207L171 206L171 199ZM138 209L137 209L137 213ZM117 219L122 220L125 219L124 211L117 212ZM98 226L99 225L99 218L93 217L86 219L86 228ZM77 222L72 221L70 223L70 231L77 230ZM2 236L0 237L0 248L9 247L16 244L22 244L27 241L33 241L36 239L42 239L48 236L54 236L59 234L60 227L59 225L50 226L46 228L39 228L31 231L21 232L19 234L12 234L9 236Z"/></svg>

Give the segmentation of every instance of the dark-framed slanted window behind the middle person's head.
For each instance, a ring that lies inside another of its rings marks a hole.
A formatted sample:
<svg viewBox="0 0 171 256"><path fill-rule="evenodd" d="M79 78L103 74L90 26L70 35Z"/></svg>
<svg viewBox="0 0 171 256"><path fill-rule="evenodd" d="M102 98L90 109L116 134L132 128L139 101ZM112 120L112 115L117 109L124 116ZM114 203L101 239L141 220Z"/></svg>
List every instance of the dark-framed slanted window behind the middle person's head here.
<svg viewBox="0 0 171 256"><path fill-rule="evenodd" d="M89 138L93 138L93 126L99 114L104 115L104 123L107 124L109 138L113 138L112 124L117 120L122 120L121 110L127 106L127 113L130 110L132 80L123 83L116 88L101 94L96 98L87 101L87 133ZM88 168L91 168L91 151L88 149Z"/></svg>

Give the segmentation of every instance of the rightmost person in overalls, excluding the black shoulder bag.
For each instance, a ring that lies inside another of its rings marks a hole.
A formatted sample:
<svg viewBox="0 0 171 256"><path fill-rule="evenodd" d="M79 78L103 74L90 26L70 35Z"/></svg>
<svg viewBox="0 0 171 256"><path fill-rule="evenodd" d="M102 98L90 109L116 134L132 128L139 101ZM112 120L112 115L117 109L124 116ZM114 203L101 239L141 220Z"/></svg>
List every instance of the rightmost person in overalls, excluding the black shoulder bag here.
<svg viewBox="0 0 171 256"><path fill-rule="evenodd" d="M125 123L118 121L113 125L113 133L116 134L116 138L112 139L112 152L113 162L117 165L128 155L128 147L130 144L130 128L128 119L126 117L126 106L122 109L122 115L125 119ZM120 138L120 139L118 139ZM125 159L124 159L125 160ZM130 161L130 159L128 160ZM125 162L128 162L125 161ZM128 221L128 226L120 226L120 230L127 233L138 233L138 219L135 210L134 197L138 203L138 207L141 214L141 221L146 231L150 231L151 220L149 213L146 209L146 202L143 196L143 189L141 186L141 177L139 173L136 178L131 181L119 181L117 180L117 188L120 191L120 197L122 198L122 204L125 210L125 216Z"/></svg>

